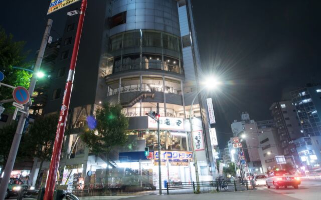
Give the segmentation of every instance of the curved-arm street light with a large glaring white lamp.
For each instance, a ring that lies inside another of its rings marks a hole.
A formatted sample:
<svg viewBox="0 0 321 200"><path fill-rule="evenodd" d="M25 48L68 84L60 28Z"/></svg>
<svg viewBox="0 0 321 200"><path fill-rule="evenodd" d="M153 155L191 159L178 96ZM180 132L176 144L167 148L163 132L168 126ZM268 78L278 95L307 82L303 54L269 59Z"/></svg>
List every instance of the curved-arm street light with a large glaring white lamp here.
<svg viewBox="0 0 321 200"><path fill-rule="evenodd" d="M198 166L197 166L197 158L196 158L196 152L195 152L195 148L194 148L194 139L193 139L193 124L192 124L192 107L194 104L194 101L196 99L196 97L204 90L204 89L213 89L216 88L218 85L221 84L220 81L218 81L217 78L215 77L209 77L206 79L205 82L202 83L204 85L204 87L202 89L200 89L196 95L194 96L192 103L191 103L191 108L190 108L190 126L191 126L191 138L192 138L192 149L193 149L193 155L194 155L194 166L195 166L195 175L196 175L196 184L197 184L197 190L196 193L200 193L201 192L201 188L200 188L200 178L199 178L199 170L198 170Z"/></svg>

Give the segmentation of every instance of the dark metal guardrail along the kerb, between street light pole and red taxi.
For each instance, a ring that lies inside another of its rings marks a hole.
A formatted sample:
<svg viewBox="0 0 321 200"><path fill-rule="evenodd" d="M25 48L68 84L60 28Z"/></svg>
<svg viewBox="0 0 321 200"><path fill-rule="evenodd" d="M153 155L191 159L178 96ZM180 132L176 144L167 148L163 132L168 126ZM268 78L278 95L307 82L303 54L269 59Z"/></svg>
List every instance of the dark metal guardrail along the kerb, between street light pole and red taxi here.
<svg viewBox="0 0 321 200"><path fill-rule="evenodd" d="M193 188L194 193L196 193L197 186L213 188L217 192L219 191L237 191L237 190L249 190L255 189L255 182L253 180L244 181L200 181L200 182L167 182L167 194L170 190L175 189L191 189ZM232 189L229 189L232 188Z"/></svg>

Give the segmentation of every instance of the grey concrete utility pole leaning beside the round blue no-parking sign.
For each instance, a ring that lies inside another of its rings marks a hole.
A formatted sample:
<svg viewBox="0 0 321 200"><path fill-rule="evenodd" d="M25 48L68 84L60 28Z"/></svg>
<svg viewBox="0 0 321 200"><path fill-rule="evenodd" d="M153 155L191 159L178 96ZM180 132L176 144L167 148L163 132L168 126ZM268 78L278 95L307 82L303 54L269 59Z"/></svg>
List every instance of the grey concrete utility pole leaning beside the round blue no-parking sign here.
<svg viewBox="0 0 321 200"><path fill-rule="evenodd" d="M52 22L53 22L52 19L48 19L46 30L45 30L44 36L42 38L42 41L41 41L38 57L37 57L36 64L35 64L34 73L32 75L30 86L28 89L30 96L32 96L32 93L34 92L34 89L35 89L35 85L37 82L37 73L39 72L41 62L44 57L44 53L45 53L48 37L50 34ZM8 160L6 163L6 168L4 170L4 177L0 183L0 199L5 198L6 190L8 188L8 182L10 180L10 175L11 175L12 169L14 167L14 163L16 160L22 132L23 132L23 129L25 126L26 118L28 117L29 106L31 106L31 102L32 102L32 100L30 98L29 102L25 105L25 109L24 109L25 112L22 112L22 114L19 118L18 126L17 126L16 133L14 136L14 140L12 142L12 145L10 148L10 153L9 153Z"/></svg>

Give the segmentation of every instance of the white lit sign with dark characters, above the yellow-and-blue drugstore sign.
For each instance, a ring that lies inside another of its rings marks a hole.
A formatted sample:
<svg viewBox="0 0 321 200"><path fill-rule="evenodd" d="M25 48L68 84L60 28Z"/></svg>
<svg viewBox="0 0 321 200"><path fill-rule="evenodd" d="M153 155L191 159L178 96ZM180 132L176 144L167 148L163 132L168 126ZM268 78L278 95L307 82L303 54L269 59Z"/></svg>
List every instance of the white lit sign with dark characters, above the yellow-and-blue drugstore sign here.
<svg viewBox="0 0 321 200"><path fill-rule="evenodd" d="M148 128L157 129L157 122L150 117L148 117ZM183 118L161 116L159 117L159 128L168 130L184 130Z"/></svg>

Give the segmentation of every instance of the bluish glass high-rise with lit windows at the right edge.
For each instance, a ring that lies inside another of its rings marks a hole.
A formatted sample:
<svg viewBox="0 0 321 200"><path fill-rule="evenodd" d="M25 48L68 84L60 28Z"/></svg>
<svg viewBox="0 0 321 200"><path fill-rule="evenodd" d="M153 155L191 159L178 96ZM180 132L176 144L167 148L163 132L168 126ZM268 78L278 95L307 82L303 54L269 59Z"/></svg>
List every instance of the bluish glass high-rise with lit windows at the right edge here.
<svg viewBox="0 0 321 200"><path fill-rule="evenodd" d="M307 84L291 91L292 102L302 126L302 136L294 140L304 167L321 164L321 85Z"/></svg>

